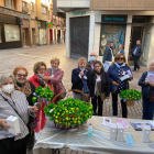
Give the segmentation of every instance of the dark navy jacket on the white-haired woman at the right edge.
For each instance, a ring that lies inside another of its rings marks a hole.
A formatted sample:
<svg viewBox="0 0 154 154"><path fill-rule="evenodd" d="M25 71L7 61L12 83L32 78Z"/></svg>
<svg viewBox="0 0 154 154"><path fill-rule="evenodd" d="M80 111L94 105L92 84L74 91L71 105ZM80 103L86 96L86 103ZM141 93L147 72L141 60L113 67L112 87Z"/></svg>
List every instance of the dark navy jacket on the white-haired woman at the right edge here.
<svg viewBox="0 0 154 154"><path fill-rule="evenodd" d="M147 77L147 72L143 73L142 77L139 80L139 86L142 87L142 95L143 97L148 98L150 95L154 95L154 87L150 86L148 84L145 85L145 78Z"/></svg>

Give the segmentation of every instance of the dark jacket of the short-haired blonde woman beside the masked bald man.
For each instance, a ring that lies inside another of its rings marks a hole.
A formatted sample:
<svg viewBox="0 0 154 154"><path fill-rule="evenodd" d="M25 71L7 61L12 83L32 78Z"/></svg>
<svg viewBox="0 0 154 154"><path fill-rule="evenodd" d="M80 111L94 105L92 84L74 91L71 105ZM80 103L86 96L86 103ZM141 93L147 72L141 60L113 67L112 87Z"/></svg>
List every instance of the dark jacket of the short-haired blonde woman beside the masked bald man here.
<svg viewBox="0 0 154 154"><path fill-rule="evenodd" d="M75 68L72 72L72 84L73 84L72 89L82 90L82 88L84 88L82 80L79 77L79 73L80 73L79 68ZM90 77L90 70L89 69L85 69L84 73L86 74L87 85L88 85L89 77Z"/></svg>

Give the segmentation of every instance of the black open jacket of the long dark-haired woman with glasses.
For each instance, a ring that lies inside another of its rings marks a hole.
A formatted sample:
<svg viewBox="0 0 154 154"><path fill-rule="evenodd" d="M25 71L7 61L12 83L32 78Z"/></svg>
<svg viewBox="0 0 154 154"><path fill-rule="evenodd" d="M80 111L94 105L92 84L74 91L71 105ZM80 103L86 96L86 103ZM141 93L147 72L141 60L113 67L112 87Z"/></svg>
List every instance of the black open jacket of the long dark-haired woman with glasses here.
<svg viewBox="0 0 154 154"><path fill-rule="evenodd" d="M90 75L89 84L90 97L95 97L95 87L96 87L96 73L92 72ZM106 92L106 97L109 97L110 94L110 81L108 74L106 72L101 72L101 92Z"/></svg>

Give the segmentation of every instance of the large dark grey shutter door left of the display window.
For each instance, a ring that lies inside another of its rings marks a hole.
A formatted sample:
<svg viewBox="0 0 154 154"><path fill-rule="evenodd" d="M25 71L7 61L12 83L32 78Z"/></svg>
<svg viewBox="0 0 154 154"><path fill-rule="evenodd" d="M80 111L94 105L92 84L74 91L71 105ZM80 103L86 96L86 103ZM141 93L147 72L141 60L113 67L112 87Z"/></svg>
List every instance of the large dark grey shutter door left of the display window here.
<svg viewBox="0 0 154 154"><path fill-rule="evenodd" d="M70 19L70 57L88 59L89 16Z"/></svg>

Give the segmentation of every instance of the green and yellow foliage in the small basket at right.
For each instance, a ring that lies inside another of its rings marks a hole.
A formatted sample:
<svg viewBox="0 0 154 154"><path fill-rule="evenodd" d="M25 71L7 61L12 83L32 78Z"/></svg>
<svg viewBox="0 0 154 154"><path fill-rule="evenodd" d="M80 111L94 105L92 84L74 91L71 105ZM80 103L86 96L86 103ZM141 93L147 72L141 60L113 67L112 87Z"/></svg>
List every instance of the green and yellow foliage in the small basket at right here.
<svg viewBox="0 0 154 154"><path fill-rule="evenodd" d="M140 100L142 94L134 89L127 89L120 92L120 98L125 98L127 100Z"/></svg>

